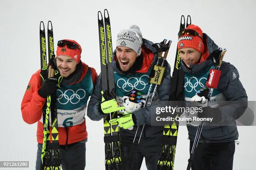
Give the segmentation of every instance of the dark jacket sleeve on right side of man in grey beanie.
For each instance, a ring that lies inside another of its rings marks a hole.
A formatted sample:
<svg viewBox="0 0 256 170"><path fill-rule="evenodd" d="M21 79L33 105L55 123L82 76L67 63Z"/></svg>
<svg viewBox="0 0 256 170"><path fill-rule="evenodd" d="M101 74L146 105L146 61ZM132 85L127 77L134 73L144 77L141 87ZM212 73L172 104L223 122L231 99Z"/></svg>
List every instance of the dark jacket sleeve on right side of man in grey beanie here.
<svg viewBox="0 0 256 170"><path fill-rule="evenodd" d="M171 67L168 62L166 62L165 65L166 70L164 73L164 80L161 85L156 88L160 101L168 101L171 90ZM153 102L151 106L147 106L145 109L134 112L133 114L136 117L136 125L151 125L151 114L153 114L152 110L156 110L156 107L159 107L159 104L157 104L157 102Z"/></svg>

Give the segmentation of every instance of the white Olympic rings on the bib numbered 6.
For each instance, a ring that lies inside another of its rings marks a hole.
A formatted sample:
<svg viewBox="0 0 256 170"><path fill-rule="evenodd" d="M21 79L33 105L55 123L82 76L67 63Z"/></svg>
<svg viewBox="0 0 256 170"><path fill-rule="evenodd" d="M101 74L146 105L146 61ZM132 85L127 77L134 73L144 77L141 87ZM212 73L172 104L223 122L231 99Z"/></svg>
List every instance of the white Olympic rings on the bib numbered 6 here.
<svg viewBox="0 0 256 170"><path fill-rule="evenodd" d="M57 89L57 91L61 92L61 95L58 96L57 100L62 105L65 105L68 102L71 102L73 105L75 105L81 99L83 99L86 95L86 92L83 89L78 89L76 92L74 92L74 90L69 89L69 90L66 90L64 93L59 89ZM70 97L66 94L68 91L73 93ZM81 91L81 92L78 94L79 91ZM81 95L81 94L84 94L84 95ZM67 100L66 102L61 102L60 101L63 97ZM77 99L77 101L75 102L73 99Z"/></svg>

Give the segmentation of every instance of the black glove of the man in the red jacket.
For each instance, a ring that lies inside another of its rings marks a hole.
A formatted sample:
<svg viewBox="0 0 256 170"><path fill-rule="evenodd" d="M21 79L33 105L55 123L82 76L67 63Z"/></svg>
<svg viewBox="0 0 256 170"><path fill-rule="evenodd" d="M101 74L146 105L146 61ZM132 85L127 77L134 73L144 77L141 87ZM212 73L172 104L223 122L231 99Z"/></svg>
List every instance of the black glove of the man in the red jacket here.
<svg viewBox="0 0 256 170"><path fill-rule="evenodd" d="M48 95L51 95L52 93L56 92L57 90L57 84L58 80L56 78L50 77L44 82L44 85L41 87L40 90L38 90L38 94L46 98Z"/></svg>

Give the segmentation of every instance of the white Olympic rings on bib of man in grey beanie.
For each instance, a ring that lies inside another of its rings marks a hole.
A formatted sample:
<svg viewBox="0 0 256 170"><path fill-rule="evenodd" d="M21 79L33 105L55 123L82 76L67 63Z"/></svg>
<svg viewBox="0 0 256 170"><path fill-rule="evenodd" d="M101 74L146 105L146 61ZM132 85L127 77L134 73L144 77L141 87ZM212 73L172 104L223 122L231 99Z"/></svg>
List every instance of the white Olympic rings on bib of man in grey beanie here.
<svg viewBox="0 0 256 170"><path fill-rule="evenodd" d="M146 82L142 80L142 77L147 77ZM132 83L132 80L135 80L136 82ZM123 88L126 92L130 92L133 89L136 90L144 90L146 88L146 85L148 84L149 76L148 75L142 75L139 79L137 77L130 77L128 78L127 82L125 79L120 78L117 81L117 86L119 88ZM121 85L120 85L121 84ZM126 88L128 86L128 88ZM142 86L142 87L140 87Z"/></svg>

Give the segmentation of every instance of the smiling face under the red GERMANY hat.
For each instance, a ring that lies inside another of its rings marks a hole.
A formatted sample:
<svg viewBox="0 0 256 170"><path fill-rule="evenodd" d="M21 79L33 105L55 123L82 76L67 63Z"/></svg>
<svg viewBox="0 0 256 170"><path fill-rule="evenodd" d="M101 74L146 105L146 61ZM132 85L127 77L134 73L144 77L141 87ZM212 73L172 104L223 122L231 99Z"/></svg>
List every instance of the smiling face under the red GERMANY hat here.
<svg viewBox="0 0 256 170"><path fill-rule="evenodd" d="M197 64L199 62L201 52L198 52L194 48L181 48L179 50L182 61L189 67L190 64Z"/></svg>

